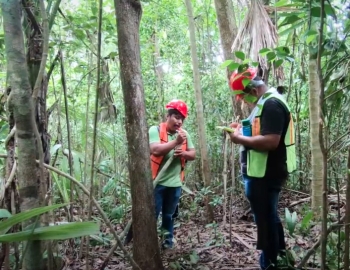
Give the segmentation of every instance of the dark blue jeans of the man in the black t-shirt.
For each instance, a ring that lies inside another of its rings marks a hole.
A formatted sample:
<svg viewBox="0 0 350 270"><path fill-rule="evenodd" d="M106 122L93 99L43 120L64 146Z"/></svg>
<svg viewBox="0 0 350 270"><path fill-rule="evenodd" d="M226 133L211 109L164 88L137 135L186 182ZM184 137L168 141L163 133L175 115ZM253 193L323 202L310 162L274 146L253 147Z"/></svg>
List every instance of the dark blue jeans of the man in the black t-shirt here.
<svg viewBox="0 0 350 270"><path fill-rule="evenodd" d="M260 267L262 269L275 269L279 253L286 249L284 230L278 216L277 207L281 185L278 181L253 178L243 175L245 195L257 225L257 249L262 250ZM282 183L282 181L281 181Z"/></svg>

